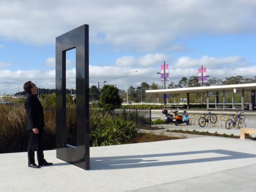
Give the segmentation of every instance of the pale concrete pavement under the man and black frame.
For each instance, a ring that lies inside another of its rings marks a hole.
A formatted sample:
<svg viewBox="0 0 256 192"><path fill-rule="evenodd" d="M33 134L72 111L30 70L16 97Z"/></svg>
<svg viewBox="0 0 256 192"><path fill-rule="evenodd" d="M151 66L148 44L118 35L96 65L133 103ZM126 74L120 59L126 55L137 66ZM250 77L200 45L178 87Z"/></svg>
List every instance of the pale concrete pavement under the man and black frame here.
<svg viewBox="0 0 256 192"><path fill-rule="evenodd" d="M0 191L256 191L256 142L200 136L91 147L90 171L56 159L32 169L26 152L0 154Z"/></svg>

